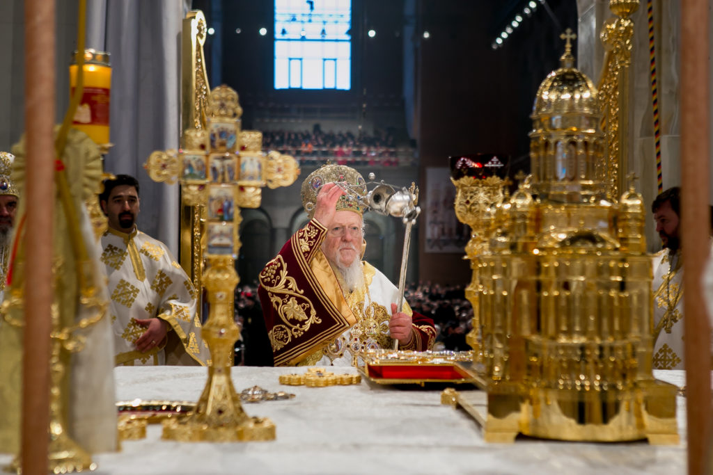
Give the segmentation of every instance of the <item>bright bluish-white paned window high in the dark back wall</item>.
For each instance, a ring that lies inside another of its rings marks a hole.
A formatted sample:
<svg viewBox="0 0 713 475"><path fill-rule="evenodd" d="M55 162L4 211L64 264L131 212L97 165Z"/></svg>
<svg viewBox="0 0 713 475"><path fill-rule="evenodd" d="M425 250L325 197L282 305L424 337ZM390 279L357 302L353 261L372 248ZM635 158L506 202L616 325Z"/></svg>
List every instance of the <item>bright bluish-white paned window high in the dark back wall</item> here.
<svg viewBox="0 0 713 475"><path fill-rule="evenodd" d="M352 0L275 0L275 89L352 88Z"/></svg>

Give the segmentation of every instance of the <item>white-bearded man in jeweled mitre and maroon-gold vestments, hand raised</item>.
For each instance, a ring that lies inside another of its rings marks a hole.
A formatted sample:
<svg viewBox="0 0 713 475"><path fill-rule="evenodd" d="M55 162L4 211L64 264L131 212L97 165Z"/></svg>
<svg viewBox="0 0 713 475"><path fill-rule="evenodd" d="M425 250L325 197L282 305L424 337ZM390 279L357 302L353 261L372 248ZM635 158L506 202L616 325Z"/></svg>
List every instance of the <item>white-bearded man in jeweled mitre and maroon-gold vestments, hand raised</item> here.
<svg viewBox="0 0 713 475"><path fill-rule="evenodd" d="M349 193L344 190L349 189ZM304 180L310 221L260 273L258 294L276 366L362 365L365 350L428 350L433 320L397 311L399 289L366 261L366 183L344 165Z"/></svg>

